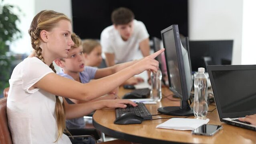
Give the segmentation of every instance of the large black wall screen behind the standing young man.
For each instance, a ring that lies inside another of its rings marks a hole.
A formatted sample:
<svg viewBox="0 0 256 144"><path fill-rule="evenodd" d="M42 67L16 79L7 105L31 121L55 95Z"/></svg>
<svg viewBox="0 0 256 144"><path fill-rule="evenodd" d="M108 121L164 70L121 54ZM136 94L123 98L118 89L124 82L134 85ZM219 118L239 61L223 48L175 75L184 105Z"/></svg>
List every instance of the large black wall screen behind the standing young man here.
<svg viewBox="0 0 256 144"><path fill-rule="evenodd" d="M188 36L188 0L71 0L73 31L80 38L100 39L111 26L111 13L119 7L133 11L143 22L150 38L161 38L160 31L169 24L179 24L180 33Z"/></svg>

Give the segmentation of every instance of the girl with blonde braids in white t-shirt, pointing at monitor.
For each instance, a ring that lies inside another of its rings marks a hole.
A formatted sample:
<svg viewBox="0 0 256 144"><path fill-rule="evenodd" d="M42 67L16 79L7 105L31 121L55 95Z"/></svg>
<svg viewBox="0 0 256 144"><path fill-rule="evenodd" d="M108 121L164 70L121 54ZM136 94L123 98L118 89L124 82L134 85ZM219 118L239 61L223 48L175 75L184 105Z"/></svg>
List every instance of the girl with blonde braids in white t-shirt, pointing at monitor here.
<svg viewBox="0 0 256 144"><path fill-rule="evenodd" d="M64 98L90 101L107 94L135 74L157 71L154 58L160 50L110 76L82 84L55 74L52 62L66 58L74 42L71 20L62 13L43 10L33 18L30 29L34 56L18 64L9 80L8 124L14 144L71 144L63 134L65 119L78 118L101 108L136 106L129 100L99 100L67 104ZM64 97L62 99L62 97Z"/></svg>

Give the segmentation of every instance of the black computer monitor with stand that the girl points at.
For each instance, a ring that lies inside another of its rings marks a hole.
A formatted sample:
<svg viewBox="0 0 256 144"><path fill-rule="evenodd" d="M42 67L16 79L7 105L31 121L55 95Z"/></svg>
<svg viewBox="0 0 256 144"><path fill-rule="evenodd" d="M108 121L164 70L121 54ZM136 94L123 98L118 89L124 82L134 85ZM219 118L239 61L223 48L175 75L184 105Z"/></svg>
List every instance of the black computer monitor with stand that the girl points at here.
<svg viewBox="0 0 256 144"><path fill-rule="evenodd" d="M192 88L192 78L189 66L188 53L181 44L177 24L161 30L163 46L165 48L165 62L169 89L181 99L180 106L158 108L158 112L173 116L194 115L189 106L189 96Z"/></svg>

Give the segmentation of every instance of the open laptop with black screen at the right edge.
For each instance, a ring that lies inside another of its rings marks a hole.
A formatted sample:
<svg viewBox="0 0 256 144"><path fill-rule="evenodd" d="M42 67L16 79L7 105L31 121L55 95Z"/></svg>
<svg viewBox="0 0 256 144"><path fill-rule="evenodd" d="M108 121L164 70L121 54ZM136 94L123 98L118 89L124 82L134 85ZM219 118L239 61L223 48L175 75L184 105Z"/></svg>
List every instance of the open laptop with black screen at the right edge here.
<svg viewBox="0 0 256 144"><path fill-rule="evenodd" d="M256 65L207 66L221 122L256 130L238 118L256 114Z"/></svg>

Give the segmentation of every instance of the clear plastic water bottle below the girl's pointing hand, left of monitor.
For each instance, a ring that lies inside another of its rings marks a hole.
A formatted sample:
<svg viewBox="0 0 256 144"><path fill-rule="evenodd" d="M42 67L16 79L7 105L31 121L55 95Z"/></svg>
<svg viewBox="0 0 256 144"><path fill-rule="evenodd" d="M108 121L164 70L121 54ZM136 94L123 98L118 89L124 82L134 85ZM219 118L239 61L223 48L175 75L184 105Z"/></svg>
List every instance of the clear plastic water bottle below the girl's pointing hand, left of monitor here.
<svg viewBox="0 0 256 144"><path fill-rule="evenodd" d="M162 73L161 70L157 70L157 72L151 72L151 91L150 91L150 98L153 100L160 102L162 98Z"/></svg>

